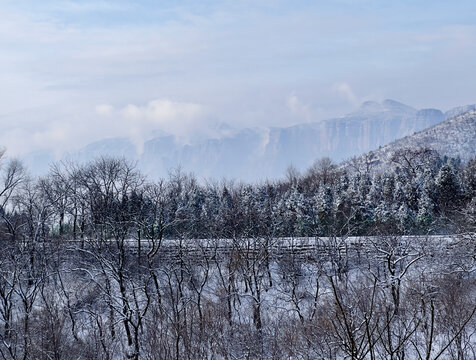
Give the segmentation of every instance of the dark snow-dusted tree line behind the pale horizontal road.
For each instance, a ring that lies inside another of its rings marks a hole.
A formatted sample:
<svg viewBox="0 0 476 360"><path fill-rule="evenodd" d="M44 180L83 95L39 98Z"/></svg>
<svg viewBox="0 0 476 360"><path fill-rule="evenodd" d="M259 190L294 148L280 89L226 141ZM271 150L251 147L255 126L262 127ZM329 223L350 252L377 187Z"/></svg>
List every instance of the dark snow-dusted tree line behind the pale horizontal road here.
<svg viewBox="0 0 476 360"><path fill-rule="evenodd" d="M199 181L180 170L151 182L113 158L59 163L29 179L12 161L3 168L0 226L12 240L107 238L108 224L119 222L139 236L191 238L454 233L475 225L475 169L475 159L461 164L428 149L400 150L384 171L324 158L260 184Z"/></svg>

